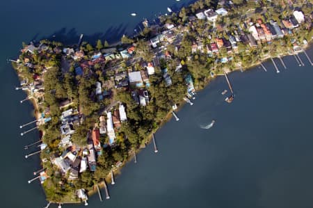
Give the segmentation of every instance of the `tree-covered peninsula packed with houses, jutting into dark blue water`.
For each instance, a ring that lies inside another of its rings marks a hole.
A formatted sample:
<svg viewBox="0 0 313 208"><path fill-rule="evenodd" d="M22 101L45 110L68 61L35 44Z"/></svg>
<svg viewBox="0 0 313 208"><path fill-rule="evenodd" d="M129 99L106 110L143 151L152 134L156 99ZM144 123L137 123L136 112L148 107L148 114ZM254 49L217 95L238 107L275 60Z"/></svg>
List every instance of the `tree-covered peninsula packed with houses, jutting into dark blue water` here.
<svg viewBox="0 0 313 208"><path fill-rule="evenodd" d="M23 43L12 64L35 108L47 200L86 201L216 75L302 52L312 20L310 1L200 0L117 46Z"/></svg>

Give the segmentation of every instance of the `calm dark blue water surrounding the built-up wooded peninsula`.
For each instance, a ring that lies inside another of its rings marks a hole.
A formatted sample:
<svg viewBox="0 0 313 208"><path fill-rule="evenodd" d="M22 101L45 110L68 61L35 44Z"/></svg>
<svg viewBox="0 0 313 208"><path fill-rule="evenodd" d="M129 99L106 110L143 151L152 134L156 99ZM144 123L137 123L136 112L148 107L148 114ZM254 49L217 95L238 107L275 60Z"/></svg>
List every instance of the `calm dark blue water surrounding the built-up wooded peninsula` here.
<svg viewBox="0 0 313 208"><path fill-rule="evenodd" d="M14 90L18 80L6 58L17 57L22 41L54 34L77 42L80 33L87 40L131 33L143 17L186 2L0 2L1 207L46 204L39 183L27 184L39 161L24 159L23 147L38 134L19 136L19 125L33 119L32 106L19 104L25 94ZM138 16L131 18L132 12ZM312 57L312 50L308 54ZM286 57L284 70L276 60L280 74L269 62L267 73L256 68L230 74L236 93L232 104L220 95L225 79L213 81L193 106L179 111L179 122L170 120L157 132L159 153L148 145L138 163L129 163L109 186L111 200L99 202L93 195L89 207L312 207L313 67L300 56L305 67ZM213 128L200 129L212 119Z"/></svg>

